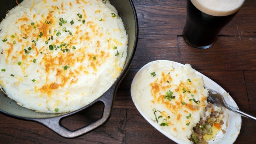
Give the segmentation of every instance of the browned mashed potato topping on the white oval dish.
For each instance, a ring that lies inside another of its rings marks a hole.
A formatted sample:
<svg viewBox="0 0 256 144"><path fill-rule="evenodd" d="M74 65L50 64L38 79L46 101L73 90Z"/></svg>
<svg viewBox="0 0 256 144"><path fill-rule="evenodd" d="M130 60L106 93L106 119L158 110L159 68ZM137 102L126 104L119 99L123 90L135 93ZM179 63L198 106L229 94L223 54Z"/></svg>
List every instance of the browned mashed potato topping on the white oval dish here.
<svg viewBox="0 0 256 144"><path fill-rule="evenodd" d="M189 64L174 69L169 61L154 61L136 74L131 93L147 117L182 143L191 143L193 127L211 114L203 78Z"/></svg>

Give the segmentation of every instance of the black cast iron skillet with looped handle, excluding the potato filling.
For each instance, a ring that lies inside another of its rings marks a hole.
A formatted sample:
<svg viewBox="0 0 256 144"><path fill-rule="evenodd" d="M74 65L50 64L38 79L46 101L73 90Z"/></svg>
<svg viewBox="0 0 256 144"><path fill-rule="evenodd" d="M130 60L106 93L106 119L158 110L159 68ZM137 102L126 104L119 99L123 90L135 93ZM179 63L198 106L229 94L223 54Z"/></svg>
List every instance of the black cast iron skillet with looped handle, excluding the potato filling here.
<svg viewBox="0 0 256 144"><path fill-rule="evenodd" d="M22 0L18 0L18 3L20 3L21 1ZM107 122L111 115L113 101L116 95L117 87L120 84L123 77L125 76L125 74L127 73L130 67L133 55L135 53L135 49L138 41L138 30L139 30L137 14L135 11L135 7L132 3L132 0L110 0L110 3L115 6L116 10L118 11L119 15L121 16L124 22L124 27L128 35L128 53L127 53L124 69L121 75L118 77L116 82L108 89L107 92L105 92L97 100L94 100L89 105L81 109L78 109L76 111L68 112L68 113L60 113L60 114L48 114L48 113L38 113L38 112L35 112L34 110L23 108L17 105L15 101L6 97L4 92L0 91L0 112L15 118L39 122L41 124L44 124L48 128L50 128L52 131L66 138L74 138L74 137L80 136L82 134L92 131L93 129ZM8 10L12 9L16 5L17 4L15 0L0 0L0 20L2 20L5 17L5 13ZM77 112L83 111L86 108L92 106L93 104L99 101L104 103L103 114L99 120L87 126L84 126L80 129L77 129L75 131L70 131L61 125L60 123L61 119L66 118L68 116L72 116Z"/></svg>

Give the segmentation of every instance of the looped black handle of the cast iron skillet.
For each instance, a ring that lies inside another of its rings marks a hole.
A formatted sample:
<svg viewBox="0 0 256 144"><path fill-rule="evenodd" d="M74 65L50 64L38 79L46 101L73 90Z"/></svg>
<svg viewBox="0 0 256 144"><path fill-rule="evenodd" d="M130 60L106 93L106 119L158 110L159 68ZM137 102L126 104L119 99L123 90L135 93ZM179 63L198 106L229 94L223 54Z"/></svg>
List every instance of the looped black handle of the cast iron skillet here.
<svg viewBox="0 0 256 144"><path fill-rule="evenodd" d="M96 103L98 101L102 101L104 103L104 110L103 110L102 117L100 119L80 128L80 129L77 129L75 131L70 131L70 130L66 129L65 127L63 127L61 125L60 121L62 118L71 116L71 115L75 114L76 112L71 113L70 115L64 114L62 116L56 116L56 117L51 117L51 118L32 119L32 120L39 122L41 124L44 124L46 127L50 128L52 131L58 133L62 137L75 138L75 137L78 137L80 135L83 135L85 133L92 131L93 129L99 127L100 125L102 125L108 121L108 119L111 115L115 95L116 95L116 84L114 84L107 92L105 92L102 96L100 96L99 99L93 101L93 103L91 103L90 105L87 105L83 109L78 110L78 111L85 110L86 108L92 106L94 103Z"/></svg>

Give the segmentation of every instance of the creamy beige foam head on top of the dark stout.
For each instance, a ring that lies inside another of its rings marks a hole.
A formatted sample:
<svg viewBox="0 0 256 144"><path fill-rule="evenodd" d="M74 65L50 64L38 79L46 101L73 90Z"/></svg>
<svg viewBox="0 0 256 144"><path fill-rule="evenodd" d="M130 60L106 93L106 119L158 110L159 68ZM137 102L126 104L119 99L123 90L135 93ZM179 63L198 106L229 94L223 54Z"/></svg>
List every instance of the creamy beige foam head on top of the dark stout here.
<svg viewBox="0 0 256 144"><path fill-rule="evenodd" d="M206 14L227 16L237 12L245 0L191 0L192 4Z"/></svg>

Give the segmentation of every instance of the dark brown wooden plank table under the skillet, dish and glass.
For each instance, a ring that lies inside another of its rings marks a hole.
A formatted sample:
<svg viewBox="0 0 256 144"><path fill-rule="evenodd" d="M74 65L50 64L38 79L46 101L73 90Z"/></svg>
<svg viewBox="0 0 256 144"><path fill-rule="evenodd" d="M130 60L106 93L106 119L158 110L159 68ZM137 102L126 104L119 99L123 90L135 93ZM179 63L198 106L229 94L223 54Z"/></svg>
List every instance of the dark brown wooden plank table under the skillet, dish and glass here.
<svg viewBox="0 0 256 144"><path fill-rule="evenodd" d="M130 86L135 73L153 60L189 63L222 86L238 107L256 116L256 1L246 0L236 17L208 49L190 47L182 37L185 0L133 0L139 19L139 40L131 68L116 93L111 118L103 126L66 139L42 124L0 114L0 143L175 143L151 126L135 108ZM102 105L66 118L70 130L100 118ZM86 116L84 116L86 115ZM242 118L235 143L255 143L256 122Z"/></svg>

